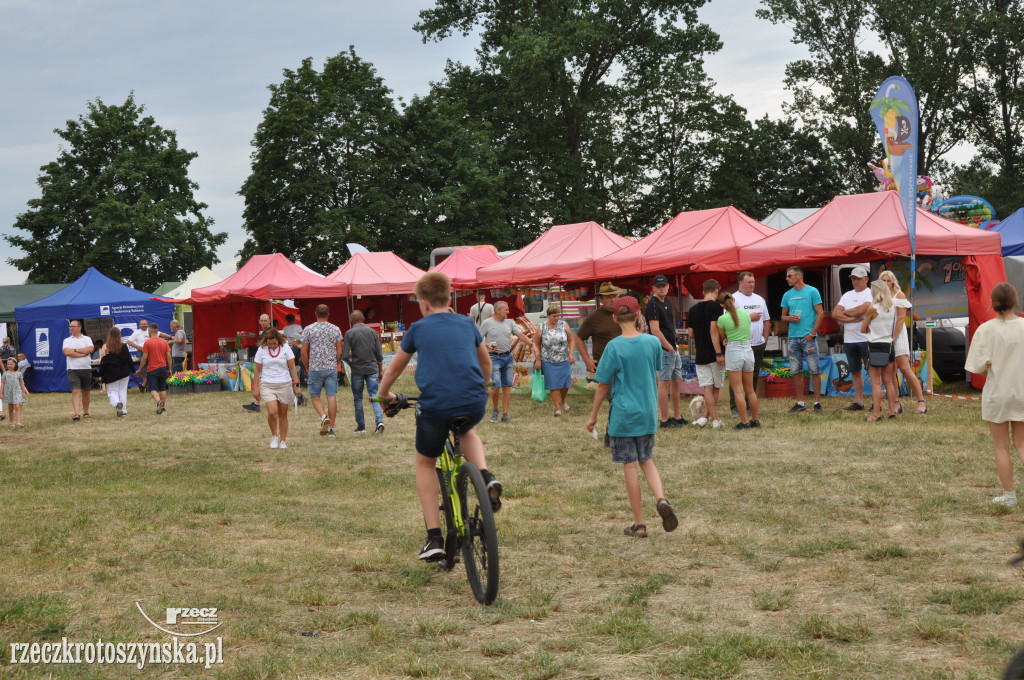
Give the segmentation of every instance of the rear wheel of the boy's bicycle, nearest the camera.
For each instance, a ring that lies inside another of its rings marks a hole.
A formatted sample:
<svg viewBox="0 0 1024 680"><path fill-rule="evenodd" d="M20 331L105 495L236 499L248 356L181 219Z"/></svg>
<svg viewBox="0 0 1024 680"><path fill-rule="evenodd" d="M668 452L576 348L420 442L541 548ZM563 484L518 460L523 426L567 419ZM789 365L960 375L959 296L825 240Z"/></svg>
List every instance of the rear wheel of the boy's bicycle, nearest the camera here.
<svg viewBox="0 0 1024 680"><path fill-rule="evenodd" d="M498 532L483 475L469 461L462 464L459 473L459 498L466 524L462 540L466 577L477 601L490 604L498 597Z"/></svg>

